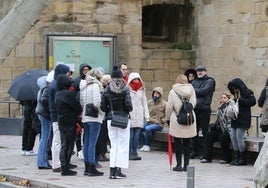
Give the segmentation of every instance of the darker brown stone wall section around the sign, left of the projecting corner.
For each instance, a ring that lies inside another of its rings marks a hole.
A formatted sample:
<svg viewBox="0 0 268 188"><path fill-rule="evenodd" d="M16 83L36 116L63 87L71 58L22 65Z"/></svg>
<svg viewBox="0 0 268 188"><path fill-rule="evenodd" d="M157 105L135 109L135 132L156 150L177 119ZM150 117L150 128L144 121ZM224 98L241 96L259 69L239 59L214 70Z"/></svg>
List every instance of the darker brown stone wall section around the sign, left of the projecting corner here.
<svg viewBox="0 0 268 188"><path fill-rule="evenodd" d="M195 52L172 49L142 49L142 6L161 1L136 0L53 0L26 36L0 64L0 101L12 100L7 90L14 77L32 68L45 68L47 33L107 34L118 37L118 61L139 72L148 97L156 86L164 88L164 97L178 73L194 67ZM170 1L183 3L183 1ZM6 109L0 104L0 114Z"/></svg>

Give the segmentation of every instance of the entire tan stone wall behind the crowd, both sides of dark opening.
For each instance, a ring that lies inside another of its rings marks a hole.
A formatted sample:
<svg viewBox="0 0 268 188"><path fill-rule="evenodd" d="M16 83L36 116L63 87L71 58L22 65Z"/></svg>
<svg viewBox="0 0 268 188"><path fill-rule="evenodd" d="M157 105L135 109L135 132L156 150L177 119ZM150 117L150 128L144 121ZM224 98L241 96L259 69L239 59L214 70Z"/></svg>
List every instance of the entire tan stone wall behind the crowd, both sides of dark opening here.
<svg viewBox="0 0 268 188"><path fill-rule="evenodd" d="M198 64L207 66L216 79L212 109L227 83L242 78L256 98L264 87L267 71L267 7L263 0L192 0L194 5L194 48L192 51L142 49L142 6L184 3L183 0L53 0L25 38L0 64L0 100L11 80L30 68L45 68L45 34L112 33L118 36L118 60L130 71L140 72L150 97L161 85L165 97L179 73ZM196 58L196 61L195 61ZM253 113L259 113L255 106Z"/></svg>

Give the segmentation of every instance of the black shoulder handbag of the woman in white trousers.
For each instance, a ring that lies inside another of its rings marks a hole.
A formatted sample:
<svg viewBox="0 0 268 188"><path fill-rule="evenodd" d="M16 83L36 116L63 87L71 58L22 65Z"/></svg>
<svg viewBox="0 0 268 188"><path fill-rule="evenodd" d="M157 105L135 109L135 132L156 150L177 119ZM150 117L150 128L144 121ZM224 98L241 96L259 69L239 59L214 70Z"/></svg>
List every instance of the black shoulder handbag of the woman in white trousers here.
<svg viewBox="0 0 268 188"><path fill-rule="evenodd" d="M128 114L117 114L117 113L114 113L111 96L109 97L109 99L110 99L110 108L111 108L111 113L112 113L111 126L112 127L121 128L121 129L127 128L128 121L129 121Z"/></svg>

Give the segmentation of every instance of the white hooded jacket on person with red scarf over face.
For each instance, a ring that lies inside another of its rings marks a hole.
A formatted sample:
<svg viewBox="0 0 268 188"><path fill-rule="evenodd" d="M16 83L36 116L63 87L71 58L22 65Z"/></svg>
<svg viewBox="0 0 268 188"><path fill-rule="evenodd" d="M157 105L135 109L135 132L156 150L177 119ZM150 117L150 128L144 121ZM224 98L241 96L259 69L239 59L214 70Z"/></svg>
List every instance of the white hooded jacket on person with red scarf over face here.
<svg viewBox="0 0 268 188"><path fill-rule="evenodd" d="M140 81L142 82L142 87L134 91L130 87L130 83L133 79L139 78ZM138 73L130 73L128 77L128 87L130 90L130 96L131 96L131 101L132 101L132 106L133 106L133 111L130 112L130 127L135 128L135 127L144 127L144 122L145 120L150 118L149 115L149 109L148 109L148 103L147 103L147 98L145 95L145 87L144 83Z"/></svg>

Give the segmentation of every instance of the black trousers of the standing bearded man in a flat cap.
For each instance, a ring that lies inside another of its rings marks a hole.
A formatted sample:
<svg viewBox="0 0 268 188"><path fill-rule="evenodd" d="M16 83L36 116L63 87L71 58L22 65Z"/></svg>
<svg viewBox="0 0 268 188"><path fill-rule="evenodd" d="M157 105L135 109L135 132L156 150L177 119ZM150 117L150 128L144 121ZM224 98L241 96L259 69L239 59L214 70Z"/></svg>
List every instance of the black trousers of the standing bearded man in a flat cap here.
<svg viewBox="0 0 268 188"><path fill-rule="evenodd" d="M199 137L199 130L202 130L203 138L205 138L208 132L210 114L211 111L195 111L197 135L192 139L192 152L198 153L199 148L203 145L202 139Z"/></svg>

